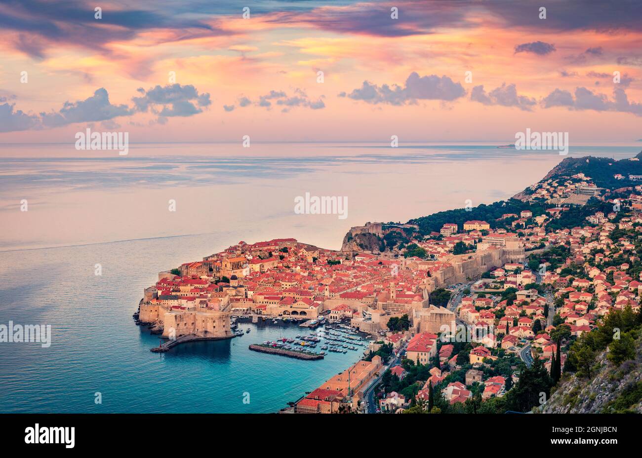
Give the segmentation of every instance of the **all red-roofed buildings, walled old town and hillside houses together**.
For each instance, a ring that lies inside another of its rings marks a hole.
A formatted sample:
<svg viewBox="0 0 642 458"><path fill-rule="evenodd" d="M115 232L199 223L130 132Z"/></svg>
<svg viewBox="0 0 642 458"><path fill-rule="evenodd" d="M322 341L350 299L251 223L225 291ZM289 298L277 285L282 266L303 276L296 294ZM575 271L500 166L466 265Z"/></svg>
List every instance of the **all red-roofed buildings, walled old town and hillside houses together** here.
<svg viewBox="0 0 642 458"><path fill-rule="evenodd" d="M642 186L624 199L601 197L613 204L613 212L596 212L586 218L586 225L561 230L548 230L547 224L569 205L586 203L585 196L600 196L603 190L576 174L538 183L531 191L531 199L544 198L554 206L544 215L534 216L530 210L503 215L500 219L512 220L514 232L493 230L487 221L466 221L462 232L447 223L440 233L412 239L425 250L421 257L324 250L295 239L239 242L160 273L158 282L145 290L140 319L168 337L227 337L232 315L345 320L353 328L381 335L395 352L404 351L405 359L433 366L412 400L385 393L379 400L381 411L403 412L410 403L428 400L431 387L437 386L451 404L465 403L473 390L482 393L482 399L503 396L519 374L485 377L485 366L511 355L523 358L528 347L531 358L542 359L550 368L557 351L551 333L567 326L568 338L578 337L611 310L638 310L642 294L642 272L634 269L641 262L636 243L642 235ZM379 223L353 230L352 235L385 232ZM456 255L453 250L460 242L469 250ZM563 249L564 259L555 266L542 262L537 269L528 268L529 251L536 260L536 253L553 247ZM429 303L435 289L480 276L468 282L454 312ZM403 316L408 316L408 330L388 330L391 318ZM453 344L440 343L444 326L454 334L456 324L469 331L471 345L464 355ZM563 366L566 355L557 357ZM385 364L378 355L360 360L299 400L293 410L354 409L382 371L390 369L399 380L405 377L403 367ZM457 370L465 371L464 382L449 378Z"/></svg>

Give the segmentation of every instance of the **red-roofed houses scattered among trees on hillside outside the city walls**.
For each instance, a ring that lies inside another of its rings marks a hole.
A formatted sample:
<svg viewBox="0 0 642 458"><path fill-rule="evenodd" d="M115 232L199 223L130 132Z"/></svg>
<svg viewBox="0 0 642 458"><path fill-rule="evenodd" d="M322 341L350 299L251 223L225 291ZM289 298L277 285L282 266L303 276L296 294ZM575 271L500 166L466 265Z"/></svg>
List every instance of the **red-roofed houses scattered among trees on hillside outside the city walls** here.
<svg viewBox="0 0 642 458"><path fill-rule="evenodd" d="M562 186L557 186L558 180L550 180L544 182L539 194L550 193L551 199L563 199L574 193L597 196L600 190L594 189L590 180L582 174L562 180ZM429 364L430 375L427 380L421 380L421 389L413 396L406 391L405 395L396 391L383 394L379 400L381 411L399 413L417 403L425 408L430 386L438 389L451 405L463 405L473 398L473 393L481 394L482 400L504 396L519 380L517 360L541 359L550 371L553 359L559 359L564 368L569 343L591 332L606 314L627 307L638 312L642 297L639 257L642 186L618 191L619 198L609 193L598 197L612 205L612 212L596 212L586 218L586 225L573 228L548 230L546 227L549 221L568 211L568 207L550 208L546 216L539 219L528 210L519 215L505 214L503 218L519 221L519 235L489 229L483 234L476 232L483 221L469 221L471 230L465 233L458 233L454 224L444 225L440 232L442 242L451 237L460 237L463 241L471 234L483 242L494 242L504 235L534 250L531 260L539 259L538 253L542 253L542 260L534 270L528 267L533 263L506 262L489 269L481 280L468 284L467 293L456 307L457 323L469 331L466 340L469 346L463 347L464 350L461 346L456 350L453 344L432 344L432 338L437 335L409 333L405 337L410 339L406 358L415 364ZM551 203L563 204L561 200ZM478 250L483 242L475 242ZM483 248L493 250L492 247L501 242L496 243ZM546 251L552 248L557 248L553 250L555 253L562 253L551 255L555 266L546 260L550 259ZM391 334L390 341L397 341L397 335ZM564 337L560 354L556 355L559 335ZM460 355L458 351L465 353ZM435 364L437 355L439 364ZM501 361L508 362L512 368L510 374L497 375L496 369L492 369ZM406 377L402 366L391 371L399 380ZM465 380L461 380L462 371L465 371ZM458 375L453 377L455 373Z"/></svg>

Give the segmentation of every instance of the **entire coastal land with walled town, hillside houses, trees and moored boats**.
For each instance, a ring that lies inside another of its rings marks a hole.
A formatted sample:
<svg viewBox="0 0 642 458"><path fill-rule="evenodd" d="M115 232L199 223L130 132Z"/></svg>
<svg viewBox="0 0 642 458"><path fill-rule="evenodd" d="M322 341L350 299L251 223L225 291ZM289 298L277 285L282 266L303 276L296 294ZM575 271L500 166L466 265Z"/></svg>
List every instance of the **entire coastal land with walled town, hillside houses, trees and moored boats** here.
<svg viewBox="0 0 642 458"><path fill-rule="evenodd" d="M360 343L282 412L642 412L641 158L566 158L513 198L365 223L339 251L241 241L160 272L134 318L158 352L243 320L298 325L254 350L304 367Z"/></svg>

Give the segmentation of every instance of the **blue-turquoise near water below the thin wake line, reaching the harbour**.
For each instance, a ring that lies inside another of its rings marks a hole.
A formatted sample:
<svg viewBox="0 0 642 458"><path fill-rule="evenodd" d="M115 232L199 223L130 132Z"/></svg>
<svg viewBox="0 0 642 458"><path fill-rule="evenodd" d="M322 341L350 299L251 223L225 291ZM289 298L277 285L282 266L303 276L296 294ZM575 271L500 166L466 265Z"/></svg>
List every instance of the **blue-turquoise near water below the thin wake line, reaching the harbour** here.
<svg viewBox="0 0 642 458"><path fill-rule="evenodd" d="M3 266L14 269L0 285L0 323L52 328L49 348L0 343L0 412L275 412L359 359L361 351L303 361L248 350L308 334L271 322L242 323L250 333L227 341L150 352L159 339L132 319L143 287L157 271L198 259L220 240L196 235L0 253ZM94 275L97 262L102 276Z"/></svg>

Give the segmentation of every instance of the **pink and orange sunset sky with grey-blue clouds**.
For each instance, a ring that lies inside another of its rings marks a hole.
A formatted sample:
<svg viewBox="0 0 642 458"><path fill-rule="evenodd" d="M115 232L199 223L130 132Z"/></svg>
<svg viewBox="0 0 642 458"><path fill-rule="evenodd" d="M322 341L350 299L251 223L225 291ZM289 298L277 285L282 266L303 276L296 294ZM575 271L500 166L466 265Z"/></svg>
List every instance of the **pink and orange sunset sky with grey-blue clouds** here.
<svg viewBox="0 0 642 458"><path fill-rule="evenodd" d="M530 128L635 144L641 20L638 0L0 0L0 143L86 128L510 143Z"/></svg>

